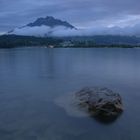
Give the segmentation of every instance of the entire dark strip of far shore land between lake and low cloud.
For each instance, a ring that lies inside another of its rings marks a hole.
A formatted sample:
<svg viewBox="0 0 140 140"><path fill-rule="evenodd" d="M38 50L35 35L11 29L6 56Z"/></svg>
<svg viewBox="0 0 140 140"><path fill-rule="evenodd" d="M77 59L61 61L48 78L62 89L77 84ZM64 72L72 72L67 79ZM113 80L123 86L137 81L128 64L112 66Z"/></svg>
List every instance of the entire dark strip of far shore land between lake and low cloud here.
<svg viewBox="0 0 140 140"><path fill-rule="evenodd" d="M0 48L24 46L45 46L54 48L133 48L140 47L140 37L113 35L82 37L0 36Z"/></svg>

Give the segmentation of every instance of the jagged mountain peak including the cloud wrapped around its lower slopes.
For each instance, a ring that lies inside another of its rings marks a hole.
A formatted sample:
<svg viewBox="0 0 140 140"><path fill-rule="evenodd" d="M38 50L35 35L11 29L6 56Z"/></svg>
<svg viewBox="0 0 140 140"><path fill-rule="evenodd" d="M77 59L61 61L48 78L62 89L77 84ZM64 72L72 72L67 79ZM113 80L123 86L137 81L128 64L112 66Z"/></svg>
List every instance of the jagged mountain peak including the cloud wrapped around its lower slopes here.
<svg viewBox="0 0 140 140"><path fill-rule="evenodd" d="M58 36L60 34L63 36L63 34L68 34L76 30L77 29L67 21L47 16L45 18L38 18L25 26L15 28L7 34L41 37Z"/></svg>

